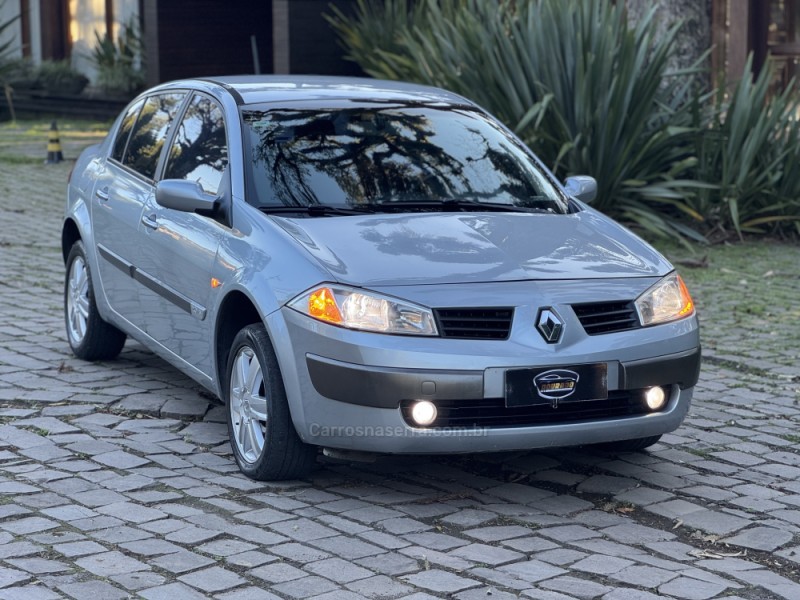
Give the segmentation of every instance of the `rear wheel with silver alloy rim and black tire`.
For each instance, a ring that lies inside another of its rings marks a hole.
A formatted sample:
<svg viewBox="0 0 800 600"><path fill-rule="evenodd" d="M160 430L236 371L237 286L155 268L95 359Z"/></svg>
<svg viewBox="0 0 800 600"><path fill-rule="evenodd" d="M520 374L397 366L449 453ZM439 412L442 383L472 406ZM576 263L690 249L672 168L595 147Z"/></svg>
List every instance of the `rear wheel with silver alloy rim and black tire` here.
<svg viewBox="0 0 800 600"><path fill-rule="evenodd" d="M81 241L72 245L67 256L64 323L69 347L83 360L116 358L125 345L125 334L105 322L97 311L92 274Z"/></svg>

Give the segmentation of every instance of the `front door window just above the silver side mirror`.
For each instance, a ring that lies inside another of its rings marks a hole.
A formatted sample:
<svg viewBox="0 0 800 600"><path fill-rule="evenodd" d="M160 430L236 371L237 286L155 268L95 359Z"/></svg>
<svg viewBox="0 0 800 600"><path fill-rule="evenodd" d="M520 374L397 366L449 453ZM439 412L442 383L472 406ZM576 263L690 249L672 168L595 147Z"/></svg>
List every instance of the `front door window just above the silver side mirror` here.
<svg viewBox="0 0 800 600"><path fill-rule="evenodd" d="M227 164L222 110L210 98L196 94L169 149L164 178L197 181L203 191L216 196Z"/></svg>

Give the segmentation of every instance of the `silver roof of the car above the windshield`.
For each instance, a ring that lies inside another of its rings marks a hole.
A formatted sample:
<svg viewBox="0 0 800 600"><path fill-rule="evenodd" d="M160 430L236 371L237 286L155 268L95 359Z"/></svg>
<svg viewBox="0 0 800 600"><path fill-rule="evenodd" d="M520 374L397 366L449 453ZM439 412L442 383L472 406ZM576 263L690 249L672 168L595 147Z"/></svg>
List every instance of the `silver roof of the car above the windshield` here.
<svg viewBox="0 0 800 600"><path fill-rule="evenodd" d="M398 101L443 104L472 103L464 97L435 87L359 77L231 75L194 80L220 85L239 104L285 103L302 100ZM190 83L172 82L171 85Z"/></svg>

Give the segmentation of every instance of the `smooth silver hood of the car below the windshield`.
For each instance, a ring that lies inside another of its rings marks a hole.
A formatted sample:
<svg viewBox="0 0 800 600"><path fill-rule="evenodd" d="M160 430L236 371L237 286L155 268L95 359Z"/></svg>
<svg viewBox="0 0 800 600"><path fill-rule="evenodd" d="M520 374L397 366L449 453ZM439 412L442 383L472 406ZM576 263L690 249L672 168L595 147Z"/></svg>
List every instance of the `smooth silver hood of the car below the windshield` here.
<svg viewBox="0 0 800 600"><path fill-rule="evenodd" d="M672 266L599 212L270 217L340 282L420 285L665 275Z"/></svg>

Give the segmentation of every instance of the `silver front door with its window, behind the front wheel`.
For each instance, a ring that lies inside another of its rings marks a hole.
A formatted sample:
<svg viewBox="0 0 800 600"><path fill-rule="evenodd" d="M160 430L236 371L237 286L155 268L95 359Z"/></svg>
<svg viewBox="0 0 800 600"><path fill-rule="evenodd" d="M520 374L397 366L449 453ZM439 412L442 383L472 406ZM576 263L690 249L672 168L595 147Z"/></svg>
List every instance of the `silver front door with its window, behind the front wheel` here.
<svg viewBox="0 0 800 600"><path fill-rule="evenodd" d="M225 123L214 100L196 94L175 130L163 179L196 181L217 197L228 162ZM151 198L140 226L140 302L147 334L211 376L211 273L226 225L214 216L159 206Z"/></svg>

